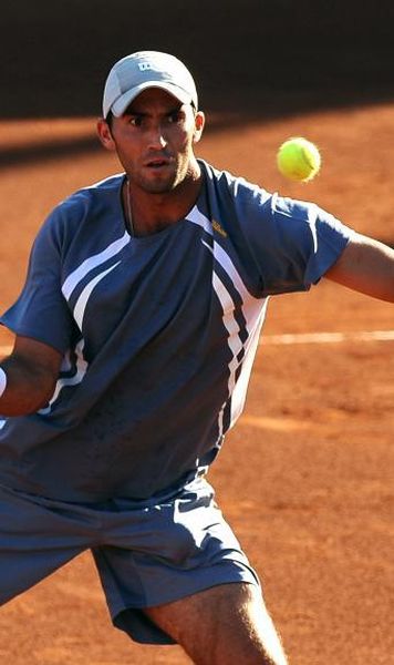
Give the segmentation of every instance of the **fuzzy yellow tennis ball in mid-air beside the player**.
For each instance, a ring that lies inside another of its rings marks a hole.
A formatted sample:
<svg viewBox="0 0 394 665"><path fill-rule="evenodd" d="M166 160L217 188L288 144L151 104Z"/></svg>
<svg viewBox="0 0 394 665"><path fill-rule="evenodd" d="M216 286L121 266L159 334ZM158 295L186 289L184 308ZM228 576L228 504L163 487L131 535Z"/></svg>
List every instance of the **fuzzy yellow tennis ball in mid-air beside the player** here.
<svg viewBox="0 0 394 665"><path fill-rule="evenodd" d="M319 149L302 136L284 141L277 153L280 173L292 181L307 182L320 171Z"/></svg>

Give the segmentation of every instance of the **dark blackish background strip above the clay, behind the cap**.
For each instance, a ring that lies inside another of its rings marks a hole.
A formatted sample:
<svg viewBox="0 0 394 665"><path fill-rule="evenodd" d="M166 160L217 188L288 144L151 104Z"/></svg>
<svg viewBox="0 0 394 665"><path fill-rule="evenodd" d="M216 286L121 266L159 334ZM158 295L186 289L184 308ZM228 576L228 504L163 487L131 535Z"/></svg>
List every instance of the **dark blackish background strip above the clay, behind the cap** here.
<svg viewBox="0 0 394 665"><path fill-rule="evenodd" d="M391 0L2 0L2 117L94 115L112 64L184 59L208 111L291 113L394 94Z"/></svg>

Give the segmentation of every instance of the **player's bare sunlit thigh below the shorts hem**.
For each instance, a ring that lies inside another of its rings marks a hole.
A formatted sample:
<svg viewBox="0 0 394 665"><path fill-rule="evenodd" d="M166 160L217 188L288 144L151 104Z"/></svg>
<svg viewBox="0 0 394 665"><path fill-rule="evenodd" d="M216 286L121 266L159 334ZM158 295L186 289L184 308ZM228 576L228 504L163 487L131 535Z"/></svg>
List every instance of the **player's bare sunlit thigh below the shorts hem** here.
<svg viewBox="0 0 394 665"><path fill-rule="evenodd" d="M197 665L286 665L260 590L222 584L145 610Z"/></svg>

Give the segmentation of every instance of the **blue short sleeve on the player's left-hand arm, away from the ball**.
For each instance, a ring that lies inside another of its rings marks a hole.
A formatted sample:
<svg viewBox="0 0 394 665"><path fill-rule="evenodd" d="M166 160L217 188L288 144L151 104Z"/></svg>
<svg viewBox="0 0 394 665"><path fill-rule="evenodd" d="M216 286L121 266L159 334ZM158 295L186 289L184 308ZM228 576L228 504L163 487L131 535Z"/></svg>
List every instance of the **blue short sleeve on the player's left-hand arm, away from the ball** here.
<svg viewBox="0 0 394 665"><path fill-rule="evenodd" d="M61 290L61 255L60 214L54 211L34 241L23 289L0 323L64 352L75 327Z"/></svg>

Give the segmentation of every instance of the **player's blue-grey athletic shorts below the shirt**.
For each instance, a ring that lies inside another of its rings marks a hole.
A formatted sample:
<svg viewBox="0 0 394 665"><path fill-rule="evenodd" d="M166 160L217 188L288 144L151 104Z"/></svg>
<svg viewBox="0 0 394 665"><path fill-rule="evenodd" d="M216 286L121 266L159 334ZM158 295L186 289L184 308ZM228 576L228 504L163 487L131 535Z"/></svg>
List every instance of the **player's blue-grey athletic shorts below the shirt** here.
<svg viewBox="0 0 394 665"><path fill-rule="evenodd" d="M113 624L136 642L174 641L142 612L256 572L197 479L159 504L69 503L0 487L0 603L91 549Z"/></svg>

